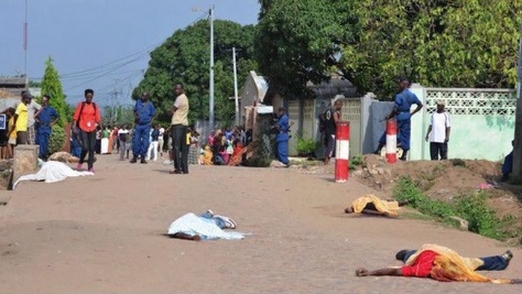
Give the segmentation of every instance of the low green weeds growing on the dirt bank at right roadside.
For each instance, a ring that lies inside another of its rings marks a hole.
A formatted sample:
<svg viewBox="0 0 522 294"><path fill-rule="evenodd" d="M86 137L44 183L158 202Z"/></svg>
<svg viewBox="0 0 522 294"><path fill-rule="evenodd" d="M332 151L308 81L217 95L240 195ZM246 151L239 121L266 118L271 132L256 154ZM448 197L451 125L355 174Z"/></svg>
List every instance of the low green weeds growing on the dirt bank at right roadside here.
<svg viewBox="0 0 522 294"><path fill-rule="evenodd" d="M461 195L446 203L427 197L410 177L401 177L393 188L393 196L399 202L407 202L422 214L445 222L448 222L450 216L464 218L468 221L470 231L489 238L503 240L509 233L503 227L512 218L508 216L499 219L494 210L488 206L483 193Z"/></svg>

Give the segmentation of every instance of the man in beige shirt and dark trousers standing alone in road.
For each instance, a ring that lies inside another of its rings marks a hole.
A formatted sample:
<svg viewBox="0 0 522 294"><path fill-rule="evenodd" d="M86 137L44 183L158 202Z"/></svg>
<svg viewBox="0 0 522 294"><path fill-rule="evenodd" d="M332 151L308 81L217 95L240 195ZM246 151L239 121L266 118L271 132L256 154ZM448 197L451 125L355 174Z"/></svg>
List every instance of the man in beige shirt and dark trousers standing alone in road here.
<svg viewBox="0 0 522 294"><path fill-rule="evenodd" d="M174 153L174 171L171 174L188 174L188 145L186 144L186 133L188 127L188 98L183 85L174 87L176 100L172 107L171 135L172 152Z"/></svg>

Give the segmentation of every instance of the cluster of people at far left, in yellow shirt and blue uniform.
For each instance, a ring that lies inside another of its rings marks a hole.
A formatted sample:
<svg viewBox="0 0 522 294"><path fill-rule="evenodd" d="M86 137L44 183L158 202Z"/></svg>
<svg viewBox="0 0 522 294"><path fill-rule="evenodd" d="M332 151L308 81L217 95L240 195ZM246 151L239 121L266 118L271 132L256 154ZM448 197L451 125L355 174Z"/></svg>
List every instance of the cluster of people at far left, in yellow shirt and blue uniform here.
<svg viewBox="0 0 522 294"><path fill-rule="evenodd" d="M13 149L19 144L37 144L39 157L47 160L48 141L52 127L58 121L59 115L48 105L51 96L43 95L41 105L30 91L21 92L21 101L15 108L10 107L2 111L8 120L4 141L8 146L8 157L12 157Z"/></svg>

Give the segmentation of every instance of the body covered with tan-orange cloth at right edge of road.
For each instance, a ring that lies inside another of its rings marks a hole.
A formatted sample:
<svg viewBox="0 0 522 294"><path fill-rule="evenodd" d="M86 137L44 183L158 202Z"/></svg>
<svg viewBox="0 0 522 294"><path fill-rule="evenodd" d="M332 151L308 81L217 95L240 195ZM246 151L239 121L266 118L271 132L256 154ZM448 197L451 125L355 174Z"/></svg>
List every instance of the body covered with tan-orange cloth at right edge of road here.
<svg viewBox="0 0 522 294"><path fill-rule="evenodd" d="M387 217L396 217L401 206L404 206L407 202L394 202L383 200L374 195L368 194L359 197L351 203L351 206L345 209L347 214L368 214Z"/></svg>

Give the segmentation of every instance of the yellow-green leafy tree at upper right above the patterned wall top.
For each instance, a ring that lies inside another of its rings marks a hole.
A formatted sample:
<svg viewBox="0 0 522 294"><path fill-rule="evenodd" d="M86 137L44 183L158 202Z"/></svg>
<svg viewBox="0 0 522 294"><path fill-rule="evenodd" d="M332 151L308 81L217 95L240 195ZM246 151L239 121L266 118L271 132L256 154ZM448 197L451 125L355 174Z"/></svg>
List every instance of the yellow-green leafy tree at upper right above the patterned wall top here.
<svg viewBox="0 0 522 294"><path fill-rule="evenodd" d="M521 0L361 0L341 63L363 90L389 95L398 76L425 86L513 87Z"/></svg>

